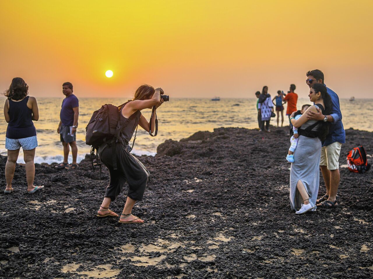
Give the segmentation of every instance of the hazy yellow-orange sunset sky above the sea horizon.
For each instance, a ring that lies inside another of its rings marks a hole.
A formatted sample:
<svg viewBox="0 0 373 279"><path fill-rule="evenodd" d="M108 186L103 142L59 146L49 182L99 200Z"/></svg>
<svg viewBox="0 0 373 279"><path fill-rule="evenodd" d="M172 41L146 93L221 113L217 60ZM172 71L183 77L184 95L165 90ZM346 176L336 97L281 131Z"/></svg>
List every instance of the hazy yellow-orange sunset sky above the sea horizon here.
<svg viewBox="0 0 373 279"><path fill-rule="evenodd" d="M373 97L373 1L0 0L0 90L20 76L31 96L172 97L307 94L320 68L340 97ZM112 78L105 71L112 70Z"/></svg>

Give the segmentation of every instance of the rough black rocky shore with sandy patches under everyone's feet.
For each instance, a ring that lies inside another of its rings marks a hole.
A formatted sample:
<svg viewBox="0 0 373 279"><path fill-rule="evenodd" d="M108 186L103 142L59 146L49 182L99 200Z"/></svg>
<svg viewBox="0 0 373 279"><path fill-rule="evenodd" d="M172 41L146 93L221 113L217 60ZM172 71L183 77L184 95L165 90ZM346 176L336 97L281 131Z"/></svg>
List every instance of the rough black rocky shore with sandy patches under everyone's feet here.
<svg viewBox="0 0 373 279"><path fill-rule="evenodd" d="M17 165L15 191L0 195L0 278L372 278L373 171L343 165L359 144L373 163L373 133L346 132L339 208L295 215L288 130L271 130L198 132L139 157L151 180L133 214L145 224L95 217L109 173L100 183L88 157L77 170L37 164L34 195Z"/></svg>

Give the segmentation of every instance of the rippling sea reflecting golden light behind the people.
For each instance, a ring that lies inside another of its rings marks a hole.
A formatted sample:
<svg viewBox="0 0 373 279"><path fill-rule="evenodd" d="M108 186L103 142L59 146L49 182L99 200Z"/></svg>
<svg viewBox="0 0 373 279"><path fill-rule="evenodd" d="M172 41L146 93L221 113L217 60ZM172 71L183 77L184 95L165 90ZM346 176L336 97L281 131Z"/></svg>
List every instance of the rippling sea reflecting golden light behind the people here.
<svg viewBox="0 0 373 279"><path fill-rule="evenodd" d="M77 96L79 98L79 96ZM5 99L2 98L5 102ZM34 121L37 130L38 147L35 154L35 163L62 162L63 150L60 136L57 134L57 126L60 118L60 108L63 98L37 98L39 107L39 121ZM90 147L85 144L85 126L90 120L94 110L101 105L110 103L120 105L126 102L126 98L79 98L79 125L76 133L78 145L78 163L90 152ZM150 135L140 127L137 131L133 154L152 155L157 152L157 146L165 140L180 140L189 137L198 131L213 131L219 127L244 127L257 128L256 98L229 99L220 101L195 98L172 98L163 103L157 110L158 135ZM310 103L308 98L298 99L298 108ZM373 131L373 99L356 99L351 102L341 99L342 122L345 129L354 128ZM289 124L284 111L284 126ZM143 110L142 114L149 119L151 110ZM281 121L281 118L280 118ZM281 122L280 122L281 123ZM271 125L276 124L276 118L272 118ZM0 154L6 155L5 135L7 123L4 117L0 118ZM133 139L132 139L133 140ZM130 142L132 144L132 141ZM286 147L288 148L288 147ZM69 162L72 161L71 153ZM18 157L18 163L24 163L22 149Z"/></svg>

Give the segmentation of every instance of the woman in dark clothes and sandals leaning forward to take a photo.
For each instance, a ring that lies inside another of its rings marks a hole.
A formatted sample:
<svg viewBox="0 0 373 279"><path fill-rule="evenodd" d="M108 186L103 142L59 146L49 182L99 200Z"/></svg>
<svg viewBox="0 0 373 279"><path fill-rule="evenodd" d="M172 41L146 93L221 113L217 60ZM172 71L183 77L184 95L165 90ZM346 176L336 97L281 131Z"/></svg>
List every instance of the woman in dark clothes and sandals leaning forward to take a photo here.
<svg viewBox="0 0 373 279"><path fill-rule="evenodd" d="M148 181L149 173L144 165L127 150L128 143L134 134L137 125L140 125L145 131L149 132L149 122L141 114L142 109L151 109L153 106L158 108L163 103L160 95L163 94L161 88L154 90L152 86L142 85L136 92L134 99L129 100L121 108L119 108L119 117L124 118L125 125L121 130L121 139L115 144L115 154L112 148L106 148L108 145L103 144L98 148L98 154L101 161L109 169L110 182L106 188L106 193L100 209L98 209L97 217L106 217L118 215L109 209L110 202L115 201L124 184L128 182L129 190L127 201L120 214L120 223L142 223L140 218L131 214L132 208L136 201L142 201L145 192L145 187ZM156 113L154 113L156 116ZM155 118L151 123L151 132L155 127ZM123 120L123 119L122 119ZM113 167L113 157L116 156L117 169Z"/></svg>

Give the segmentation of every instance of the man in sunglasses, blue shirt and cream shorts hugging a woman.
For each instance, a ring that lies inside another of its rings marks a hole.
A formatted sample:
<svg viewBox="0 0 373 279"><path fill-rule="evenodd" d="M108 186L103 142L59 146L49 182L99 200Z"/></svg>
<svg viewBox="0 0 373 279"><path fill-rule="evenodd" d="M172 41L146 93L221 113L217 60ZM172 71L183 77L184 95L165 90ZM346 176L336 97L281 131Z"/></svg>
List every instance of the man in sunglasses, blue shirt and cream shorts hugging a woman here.
<svg viewBox="0 0 373 279"><path fill-rule="evenodd" d="M311 88L314 83L324 83L324 74L320 70L313 70L307 72L308 86ZM332 110L330 115L323 115L321 110L318 113L308 112L307 118L325 122L332 122L329 128L329 134L322 142L320 168L325 181L326 194L317 200L324 208L333 208L338 205L337 190L339 186L339 153L341 146L345 143L345 129L342 124L342 113L339 106L338 95L331 89L327 88L327 93L332 99Z"/></svg>

